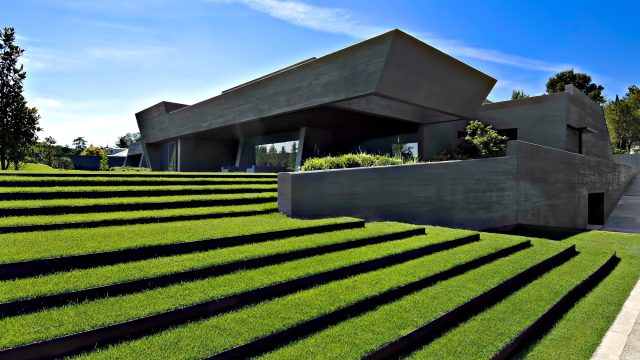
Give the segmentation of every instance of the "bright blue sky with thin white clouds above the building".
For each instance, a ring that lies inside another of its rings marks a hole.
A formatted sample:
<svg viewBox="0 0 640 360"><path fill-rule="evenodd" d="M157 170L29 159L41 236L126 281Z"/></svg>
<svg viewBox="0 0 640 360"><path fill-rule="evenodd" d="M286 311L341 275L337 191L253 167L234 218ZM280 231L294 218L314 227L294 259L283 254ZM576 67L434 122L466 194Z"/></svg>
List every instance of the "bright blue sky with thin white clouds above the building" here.
<svg viewBox="0 0 640 360"><path fill-rule="evenodd" d="M588 72L640 85L639 1L3 0L45 131L113 145L159 101L192 104L393 28L495 77L489 99Z"/></svg>

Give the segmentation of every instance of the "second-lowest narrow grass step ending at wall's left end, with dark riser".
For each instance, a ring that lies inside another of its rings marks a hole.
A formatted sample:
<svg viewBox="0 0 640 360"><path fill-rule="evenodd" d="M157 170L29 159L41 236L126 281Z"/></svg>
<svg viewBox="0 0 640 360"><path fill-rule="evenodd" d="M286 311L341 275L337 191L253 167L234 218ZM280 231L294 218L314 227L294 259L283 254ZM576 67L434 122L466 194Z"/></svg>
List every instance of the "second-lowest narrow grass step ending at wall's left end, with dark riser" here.
<svg viewBox="0 0 640 360"><path fill-rule="evenodd" d="M277 193L159 196L73 200L0 201L0 216L82 214L110 211L181 209L274 202Z"/></svg>

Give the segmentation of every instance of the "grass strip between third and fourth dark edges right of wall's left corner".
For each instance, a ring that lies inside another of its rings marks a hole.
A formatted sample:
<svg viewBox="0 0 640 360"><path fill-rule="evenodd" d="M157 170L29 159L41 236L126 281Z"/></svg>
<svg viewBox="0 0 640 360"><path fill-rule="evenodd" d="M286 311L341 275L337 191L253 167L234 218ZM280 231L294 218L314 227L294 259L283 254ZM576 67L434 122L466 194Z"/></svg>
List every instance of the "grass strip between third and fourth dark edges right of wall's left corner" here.
<svg viewBox="0 0 640 360"><path fill-rule="evenodd" d="M434 276L513 245L515 243L509 241L478 242L447 250L170 329L140 340L115 345L104 351L88 354L87 357L135 357L136 354L140 354L141 349L147 348L154 349L149 354L151 357L167 351L167 357L175 357L182 353L186 357L204 358L277 331L295 330L296 325L305 321L339 311L380 293ZM252 326L243 326L242 324L246 324L249 319ZM163 342L165 345L156 348L157 344ZM224 355L228 356L227 358L247 358L246 354Z"/></svg>

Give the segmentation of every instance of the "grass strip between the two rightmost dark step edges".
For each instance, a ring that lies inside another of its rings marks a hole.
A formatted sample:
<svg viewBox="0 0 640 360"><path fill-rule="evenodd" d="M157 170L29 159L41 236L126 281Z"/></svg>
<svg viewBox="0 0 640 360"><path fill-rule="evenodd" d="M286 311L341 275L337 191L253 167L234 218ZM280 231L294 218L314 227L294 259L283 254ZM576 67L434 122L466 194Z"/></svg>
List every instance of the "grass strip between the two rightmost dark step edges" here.
<svg viewBox="0 0 640 360"><path fill-rule="evenodd" d="M415 352L411 358L433 358L443 353L460 359L491 358L607 258L604 254L580 254Z"/></svg>

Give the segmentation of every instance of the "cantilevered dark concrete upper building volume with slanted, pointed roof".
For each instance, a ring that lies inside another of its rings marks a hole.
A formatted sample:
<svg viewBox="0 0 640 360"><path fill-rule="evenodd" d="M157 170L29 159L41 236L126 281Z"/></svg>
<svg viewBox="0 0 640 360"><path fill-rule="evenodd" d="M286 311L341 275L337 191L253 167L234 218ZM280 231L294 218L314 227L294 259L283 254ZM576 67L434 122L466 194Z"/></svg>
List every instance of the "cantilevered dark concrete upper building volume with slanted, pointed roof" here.
<svg viewBox="0 0 640 360"><path fill-rule="evenodd" d="M421 143L421 125L474 117L495 82L393 30L194 105L158 103L136 119L153 170L251 167L252 146L285 134L283 141L304 143L300 165L403 134Z"/></svg>

